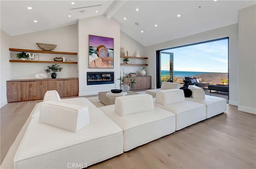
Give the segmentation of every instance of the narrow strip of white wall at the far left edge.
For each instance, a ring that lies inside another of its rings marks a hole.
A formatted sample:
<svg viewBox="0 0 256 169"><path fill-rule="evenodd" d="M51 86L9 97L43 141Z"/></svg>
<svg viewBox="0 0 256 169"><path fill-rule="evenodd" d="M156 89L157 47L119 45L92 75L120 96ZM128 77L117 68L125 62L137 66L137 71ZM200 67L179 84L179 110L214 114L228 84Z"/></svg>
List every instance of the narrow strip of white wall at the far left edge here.
<svg viewBox="0 0 256 169"><path fill-rule="evenodd" d="M8 35L5 31L1 29L0 32L0 39L1 39L1 59L0 59L0 65L1 65L1 98L0 103L1 107L7 104L7 98L6 98L6 81L12 79L12 72L11 68L12 65L10 64L10 38L11 36Z"/></svg>

